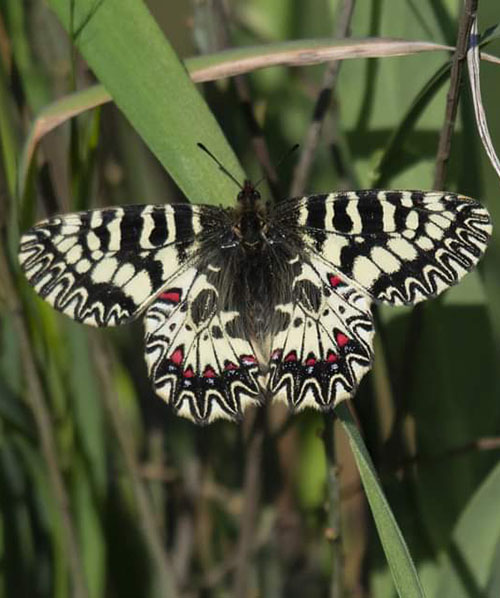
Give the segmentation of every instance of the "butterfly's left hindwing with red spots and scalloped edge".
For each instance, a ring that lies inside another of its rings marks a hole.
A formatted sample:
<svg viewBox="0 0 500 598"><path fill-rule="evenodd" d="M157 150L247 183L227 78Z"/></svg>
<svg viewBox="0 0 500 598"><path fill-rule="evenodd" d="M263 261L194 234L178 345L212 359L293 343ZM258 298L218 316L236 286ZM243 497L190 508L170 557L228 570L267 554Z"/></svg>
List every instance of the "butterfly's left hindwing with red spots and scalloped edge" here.
<svg viewBox="0 0 500 598"><path fill-rule="evenodd" d="M259 404L259 366L238 312L220 311L211 267L187 269L145 314L146 363L156 393L196 423L241 418Z"/></svg>

